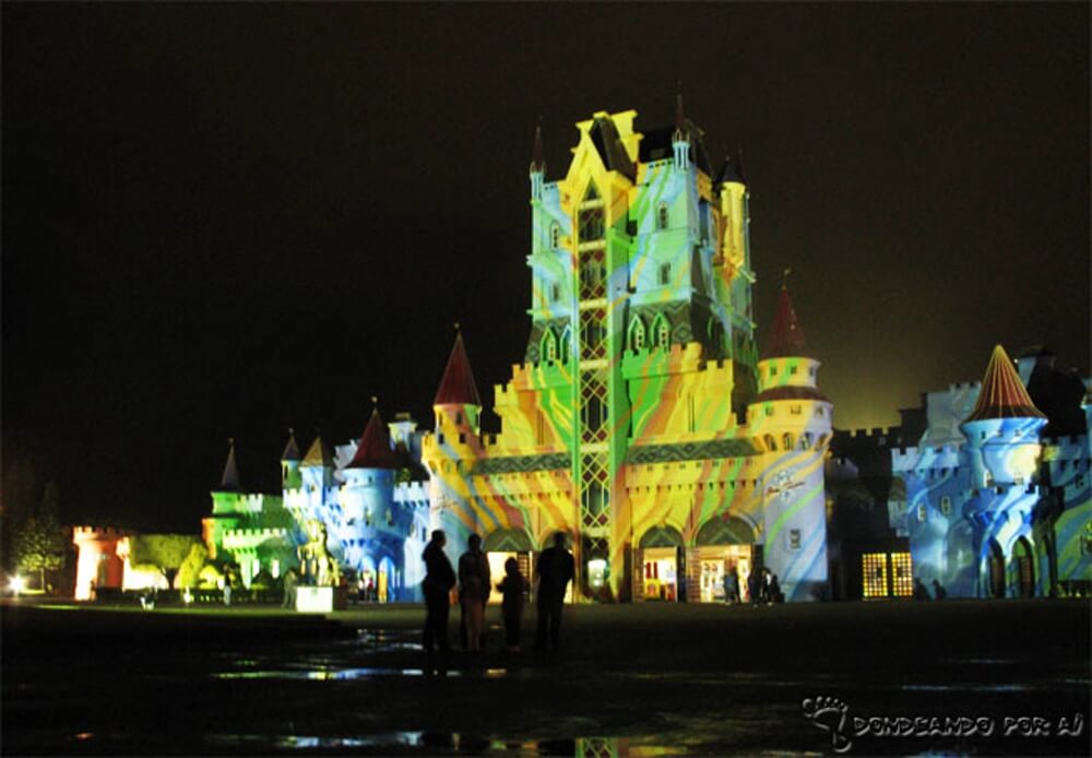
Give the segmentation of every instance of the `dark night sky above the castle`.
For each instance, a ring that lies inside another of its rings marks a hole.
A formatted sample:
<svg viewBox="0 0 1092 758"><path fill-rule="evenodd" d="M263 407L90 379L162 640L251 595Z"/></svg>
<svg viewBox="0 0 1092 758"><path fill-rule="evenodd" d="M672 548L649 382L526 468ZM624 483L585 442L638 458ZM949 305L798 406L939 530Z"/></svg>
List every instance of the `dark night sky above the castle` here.
<svg viewBox="0 0 1092 758"><path fill-rule="evenodd" d="M842 428L978 379L1089 370L1089 9L1070 4L2 5L3 455L62 518L197 531L238 440L426 421L460 321L523 355L527 164L672 118L750 180Z"/></svg>

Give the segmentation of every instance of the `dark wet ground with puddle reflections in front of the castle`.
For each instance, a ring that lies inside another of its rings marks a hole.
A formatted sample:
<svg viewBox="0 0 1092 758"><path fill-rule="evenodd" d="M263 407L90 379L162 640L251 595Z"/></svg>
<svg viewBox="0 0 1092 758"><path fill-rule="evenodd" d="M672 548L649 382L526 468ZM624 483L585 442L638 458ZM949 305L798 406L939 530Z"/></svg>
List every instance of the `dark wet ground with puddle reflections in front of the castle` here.
<svg viewBox="0 0 1092 758"><path fill-rule="evenodd" d="M562 651L546 658L499 650L495 608L485 653L428 658L422 618L419 606L324 619L9 605L2 750L1088 755L1092 746L1083 601L579 606L566 609Z"/></svg>

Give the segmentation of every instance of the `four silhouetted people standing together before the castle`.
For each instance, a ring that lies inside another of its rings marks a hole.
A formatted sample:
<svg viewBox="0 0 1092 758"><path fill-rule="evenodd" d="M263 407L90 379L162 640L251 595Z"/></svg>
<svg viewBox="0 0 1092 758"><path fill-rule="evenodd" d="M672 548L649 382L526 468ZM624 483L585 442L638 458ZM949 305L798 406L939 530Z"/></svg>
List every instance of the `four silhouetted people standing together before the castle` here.
<svg viewBox="0 0 1092 758"><path fill-rule="evenodd" d="M485 647L485 606L492 590L489 560L482 550L482 537L472 534L466 552L459 558L458 575L443 552L448 538L442 530L432 532L432 538L425 547L425 636L426 652L438 648L441 653L450 652L448 620L451 594L459 584L461 606L460 638L467 652L480 652ZM535 566L535 600L537 606L537 630L535 650L547 648L557 651L561 644L561 607L565 593L572 581L572 554L566 547L566 535L554 535L554 545L542 552ZM520 573L515 558L505 561L505 577L496 585L501 594L501 617L505 619L505 649L519 652L523 620L523 600L527 593L527 581Z"/></svg>

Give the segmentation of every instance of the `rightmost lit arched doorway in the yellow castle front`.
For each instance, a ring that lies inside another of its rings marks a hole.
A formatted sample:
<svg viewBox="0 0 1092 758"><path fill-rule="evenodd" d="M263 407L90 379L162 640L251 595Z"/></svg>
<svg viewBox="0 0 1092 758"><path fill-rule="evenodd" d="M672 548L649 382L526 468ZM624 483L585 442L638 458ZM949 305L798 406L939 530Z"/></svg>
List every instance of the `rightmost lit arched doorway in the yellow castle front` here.
<svg viewBox="0 0 1092 758"><path fill-rule="evenodd" d="M690 565L690 581L697 583L698 600L702 603L750 600L747 580L761 562L755 540L755 528L738 516L716 516L701 525L695 537L697 556Z"/></svg>

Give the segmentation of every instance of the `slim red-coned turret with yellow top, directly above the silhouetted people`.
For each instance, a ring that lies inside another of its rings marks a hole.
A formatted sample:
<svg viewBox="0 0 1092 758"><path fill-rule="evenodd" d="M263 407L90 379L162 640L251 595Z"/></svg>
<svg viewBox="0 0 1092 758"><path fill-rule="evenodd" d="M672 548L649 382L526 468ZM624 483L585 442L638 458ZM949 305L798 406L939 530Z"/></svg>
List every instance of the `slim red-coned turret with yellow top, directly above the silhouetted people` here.
<svg viewBox="0 0 1092 758"><path fill-rule="evenodd" d="M464 473L482 452L482 399L471 369L462 332L443 369L443 378L432 401L434 434L424 442L422 457L439 474L430 482L431 529L443 529L452 550L461 549L471 532L479 531L478 513L470 501Z"/></svg>

